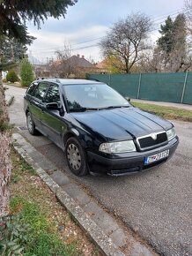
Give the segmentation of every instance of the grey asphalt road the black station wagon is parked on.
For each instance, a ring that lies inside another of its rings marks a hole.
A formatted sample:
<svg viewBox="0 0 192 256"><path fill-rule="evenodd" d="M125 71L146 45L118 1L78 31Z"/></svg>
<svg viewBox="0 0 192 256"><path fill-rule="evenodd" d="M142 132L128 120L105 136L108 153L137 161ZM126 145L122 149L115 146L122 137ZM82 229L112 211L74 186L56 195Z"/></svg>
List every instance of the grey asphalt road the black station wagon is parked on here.
<svg viewBox="0 0 192 256"><path fill-rule="evenodd" d="M6 91L8 98L15 96L9 112L11 123L19 127L26 126L24 92L16 87ZM20 132L162 255L187 256L192 255L192 123L173 123L180 137L174 157L158 169L129 177L74 177L58 147L43 136Z"/></svg>

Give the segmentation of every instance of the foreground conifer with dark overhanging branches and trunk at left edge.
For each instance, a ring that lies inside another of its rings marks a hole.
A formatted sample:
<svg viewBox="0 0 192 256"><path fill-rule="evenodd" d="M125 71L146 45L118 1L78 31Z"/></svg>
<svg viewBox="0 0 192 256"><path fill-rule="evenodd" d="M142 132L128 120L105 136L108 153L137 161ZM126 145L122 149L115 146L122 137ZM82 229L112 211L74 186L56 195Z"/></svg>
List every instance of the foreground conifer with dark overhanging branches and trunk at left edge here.
<svg viewBox="0 0 192 256"><path fill-rule="evenodd" d="M26 21L33 21L40 28L48 17L64 17L68 6L77 0L0 0L0 38L8 37L22 44L30 44L33 37L27 33ZM11 177L9 117L2 84L4 53L0 50L0 217L9 213L9 189ZM10 63L9 63L10 65Z"/></svg>

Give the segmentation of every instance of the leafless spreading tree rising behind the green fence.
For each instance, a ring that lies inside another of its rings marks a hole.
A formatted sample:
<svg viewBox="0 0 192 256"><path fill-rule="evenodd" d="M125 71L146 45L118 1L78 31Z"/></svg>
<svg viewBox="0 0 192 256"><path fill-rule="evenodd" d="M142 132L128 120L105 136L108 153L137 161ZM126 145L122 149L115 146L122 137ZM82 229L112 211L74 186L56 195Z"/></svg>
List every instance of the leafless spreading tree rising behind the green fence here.
<svg viewBox="0 0 192 256"><path fill-rule="evenodd" d="M111 57L112 63L113 59L120 59L123 65L117 67L115 62L114 67L129 73L139 60L141 52L149 49L146 39L150 29L151 20L148 16L141 13L131 14L126 19L114 23L100 41L101 51L105 57Z"/></svg>

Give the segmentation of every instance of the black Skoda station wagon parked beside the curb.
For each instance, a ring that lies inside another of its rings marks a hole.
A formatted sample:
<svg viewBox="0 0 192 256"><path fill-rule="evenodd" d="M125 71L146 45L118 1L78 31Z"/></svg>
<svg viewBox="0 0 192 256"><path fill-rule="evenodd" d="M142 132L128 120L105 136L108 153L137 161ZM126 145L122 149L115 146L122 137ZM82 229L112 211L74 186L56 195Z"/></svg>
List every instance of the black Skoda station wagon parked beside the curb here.
<svg viewBox="0 0 192 256"><path fill-rule="evenodd" d="M102 82L37 79L24 98L28 131L61 147L77 176L140 172L166 162L179 142L173 124Z"/></svg>

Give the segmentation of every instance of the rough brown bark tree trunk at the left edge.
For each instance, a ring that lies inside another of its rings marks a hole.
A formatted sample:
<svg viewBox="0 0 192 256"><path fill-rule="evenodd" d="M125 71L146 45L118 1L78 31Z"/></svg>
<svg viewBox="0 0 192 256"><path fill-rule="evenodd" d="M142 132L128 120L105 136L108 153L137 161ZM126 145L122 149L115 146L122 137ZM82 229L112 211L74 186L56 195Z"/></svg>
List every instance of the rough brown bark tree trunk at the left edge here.
<svg viewBox="0 0 192 256"><path fill-rule="evenodd" d="M2 72L0 71L0 217L9 213L11 177L10 131L8 111L4 96Z"/></svg>

